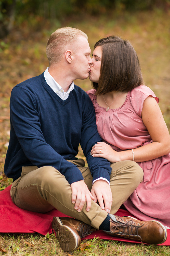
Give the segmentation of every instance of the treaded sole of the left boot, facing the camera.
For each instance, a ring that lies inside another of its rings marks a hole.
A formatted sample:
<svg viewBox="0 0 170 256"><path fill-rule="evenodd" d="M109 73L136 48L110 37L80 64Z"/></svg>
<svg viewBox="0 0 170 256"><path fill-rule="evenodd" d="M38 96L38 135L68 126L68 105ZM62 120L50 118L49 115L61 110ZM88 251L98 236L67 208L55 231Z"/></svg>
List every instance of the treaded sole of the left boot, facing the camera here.
<svg viewBox="0 0 170 256"><path fill-rule="evenodd" d="M79 246L79 238L76 233L68 226L62 224L59 217L53 218L52 228L56 232L61 249L73 251Z"/></svg>

